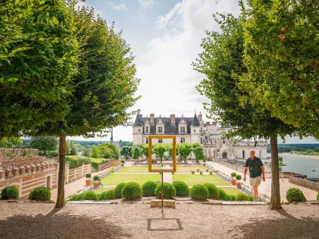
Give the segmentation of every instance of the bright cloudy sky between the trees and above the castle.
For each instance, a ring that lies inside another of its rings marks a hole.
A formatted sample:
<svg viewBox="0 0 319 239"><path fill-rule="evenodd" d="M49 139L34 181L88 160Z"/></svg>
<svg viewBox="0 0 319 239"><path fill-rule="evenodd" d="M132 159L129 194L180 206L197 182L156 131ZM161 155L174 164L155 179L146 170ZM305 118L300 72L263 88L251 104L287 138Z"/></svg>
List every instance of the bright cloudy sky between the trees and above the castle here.
<svg viewBox="0 0 319 239"><path fill-rule="evenodd" d="M114 21L136 56L136 77L141 79L136 95L142 97L131 110L140 109L144 117L152 113L192 117L196 110L207 119L202 103L208 100L195 89L205 76L193 70L191 63L202 51L205 30L220 30L212 14L237 16L237 0L86 0L80 4L93 6L108 23ZM87 140L110 140L110 136ZM115 127L113 138L133 141L132 127ZM316 142L314 138L286 139L286 143Z"/></svg>

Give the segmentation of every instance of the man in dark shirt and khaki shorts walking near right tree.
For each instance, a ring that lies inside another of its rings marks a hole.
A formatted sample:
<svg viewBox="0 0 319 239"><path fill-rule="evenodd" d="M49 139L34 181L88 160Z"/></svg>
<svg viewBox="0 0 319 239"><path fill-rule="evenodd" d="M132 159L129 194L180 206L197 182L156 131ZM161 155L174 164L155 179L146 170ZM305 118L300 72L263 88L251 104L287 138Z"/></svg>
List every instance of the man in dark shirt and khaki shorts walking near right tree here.
<svg viewBox="0 0 319 239"><path fill-rule="evenodd" d="M245 169L244 169L244 182L246 182L246 173L247 168L249 168L249 181L250 186L253 188L254 192L254 202L259 202L258 198L258 186L261 183L261 175L263 174L263 181L266 181L265 178L265 170L264 164L262 163L261 159L255 157L255 150L251 149L249 151L250 157L246 160Z"/></svg>

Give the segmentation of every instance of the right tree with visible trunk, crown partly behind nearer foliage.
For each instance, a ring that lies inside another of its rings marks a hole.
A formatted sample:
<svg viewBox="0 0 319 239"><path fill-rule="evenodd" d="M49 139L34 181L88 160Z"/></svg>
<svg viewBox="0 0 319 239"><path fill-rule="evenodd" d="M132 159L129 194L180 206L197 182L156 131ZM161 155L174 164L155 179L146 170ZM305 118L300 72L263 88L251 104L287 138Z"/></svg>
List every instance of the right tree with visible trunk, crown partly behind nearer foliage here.
<svg viewBox="0 0 319 239"><path fill-rule="evenodd" d="M243 64L245 8L243 3L242 17L235 18L231 14L215 16L220 24L221 33L207 31L207 37L202 40L203 52L193 63L194 69L206 75L197 86L201 95L211 100L205 104L207 114L222 125L232 125L233 131L225 137L239 135L243 139L258 137L269 139L272 153L272 199L270 208L280 209L279 171L277 136L284 137L296 132L293 125L285 124L282 120L272 117L268 110L261 111L253 106L249 98L242 101L246 92L238 87L238 77L247 73Z"/></svg>

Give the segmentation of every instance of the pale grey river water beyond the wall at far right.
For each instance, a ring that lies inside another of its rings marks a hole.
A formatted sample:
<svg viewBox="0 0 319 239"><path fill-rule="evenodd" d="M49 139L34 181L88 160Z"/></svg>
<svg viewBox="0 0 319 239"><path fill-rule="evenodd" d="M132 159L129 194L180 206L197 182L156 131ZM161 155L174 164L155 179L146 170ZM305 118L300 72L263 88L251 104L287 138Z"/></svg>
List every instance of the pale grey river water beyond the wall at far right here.
<svg viewBox="0 0 319 239"><path fill-rule="evenodd" d="M270 154L267 154L270 157ZM306 174L308 178L318 178L319 177L319 158L307 158L296 155L282 155L283 163L287 166L280 166L282 172L294 172L300 174ZM313 169L315 167L315 172Z"/></svg>

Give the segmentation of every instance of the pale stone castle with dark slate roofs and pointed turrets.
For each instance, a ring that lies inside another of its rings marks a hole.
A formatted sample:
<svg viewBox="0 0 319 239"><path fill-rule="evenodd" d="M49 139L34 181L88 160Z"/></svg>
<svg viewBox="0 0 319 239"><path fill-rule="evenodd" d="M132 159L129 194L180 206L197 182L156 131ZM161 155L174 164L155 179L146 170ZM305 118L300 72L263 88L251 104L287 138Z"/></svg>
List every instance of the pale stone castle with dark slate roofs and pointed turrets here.
<svg viewBox="0 0 319 239"><path fill-rule="evenodd" d="M217 122L206 121L202 115L186 118L175 117L171 114L169 118L136 116L133 125L133 144L149 143L149 135L175 135L176 143L200 143L205 150L206 158L214 159L243 159L249 157L249 150L254 149L256 156L267 158L267 141L259 141L255 146L254 141L234 142L234 138L223 138L224 132L232 130L230 125L218 126ZM171 139L159 138L152 143L171 143Z"/></svg>

